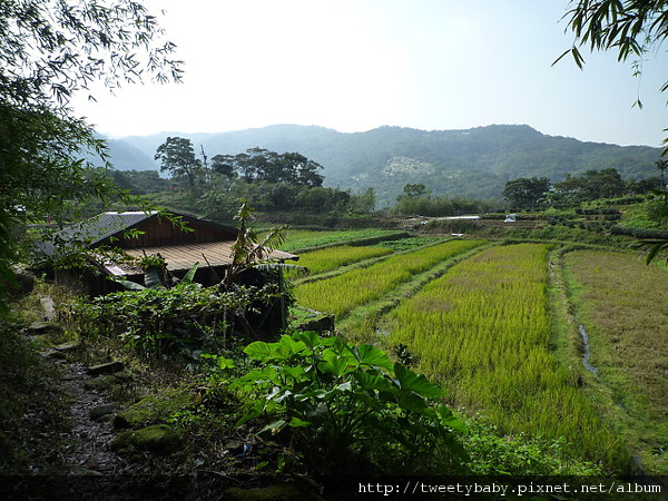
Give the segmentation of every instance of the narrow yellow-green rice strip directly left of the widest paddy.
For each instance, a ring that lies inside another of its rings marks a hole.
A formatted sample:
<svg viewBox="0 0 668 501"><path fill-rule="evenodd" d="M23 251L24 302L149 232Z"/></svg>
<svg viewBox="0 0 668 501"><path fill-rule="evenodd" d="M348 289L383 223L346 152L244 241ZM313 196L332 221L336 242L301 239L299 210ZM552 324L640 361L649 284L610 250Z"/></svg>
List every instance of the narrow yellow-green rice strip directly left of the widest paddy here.
<svg viewBox="0 0 668 501"><path fill-rule="evenodd" d="M355 268L331 278L295 287L297 303L343 317L352 308L375 301L415 274L482 245L483 240L450 240L414 252L391 256L365 268Z"/></svg>

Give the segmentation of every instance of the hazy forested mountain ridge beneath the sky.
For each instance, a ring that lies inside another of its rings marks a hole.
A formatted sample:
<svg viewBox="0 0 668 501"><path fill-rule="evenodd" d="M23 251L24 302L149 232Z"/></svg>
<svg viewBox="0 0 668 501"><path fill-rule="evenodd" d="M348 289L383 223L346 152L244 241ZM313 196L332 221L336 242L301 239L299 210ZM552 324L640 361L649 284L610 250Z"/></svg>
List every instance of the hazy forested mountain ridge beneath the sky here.
<svg viewBox="0 0 668 501"><path fill-rule="evenodd" d="M381 127L354 134L276 125L222 134L126 137L111 144L116 167L157 168L153 156L168 136L189 138L197 153L204 147L209 158L256 146L298 151L324 167L326 186L353 193L374 187L379 207L392 204L407 183L424 184L434 195L500 198L504 184L517 177L548 177L558 183L567 173L615 168L625 179L642 179L657 175L655 161L660 155L659 148L647 146L546 136L525 125L433 131Z"/></svg>

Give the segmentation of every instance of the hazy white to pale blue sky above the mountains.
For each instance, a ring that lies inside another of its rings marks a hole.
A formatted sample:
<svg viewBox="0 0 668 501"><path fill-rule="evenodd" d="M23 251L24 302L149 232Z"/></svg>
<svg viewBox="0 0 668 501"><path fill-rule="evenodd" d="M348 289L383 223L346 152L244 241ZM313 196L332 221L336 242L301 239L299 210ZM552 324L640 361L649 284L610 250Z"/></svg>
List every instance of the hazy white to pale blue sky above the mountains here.
<svg viewBox="0 0 668 501"><path fill-rule="evenodd" d="M665 52L642 79L613 53L570 57L569 0L147 0L185 60L180 85L75 101L112 137L273 124L528 124L587 141L659 146ZM632 107L640 96L645 107Z"/></svg>

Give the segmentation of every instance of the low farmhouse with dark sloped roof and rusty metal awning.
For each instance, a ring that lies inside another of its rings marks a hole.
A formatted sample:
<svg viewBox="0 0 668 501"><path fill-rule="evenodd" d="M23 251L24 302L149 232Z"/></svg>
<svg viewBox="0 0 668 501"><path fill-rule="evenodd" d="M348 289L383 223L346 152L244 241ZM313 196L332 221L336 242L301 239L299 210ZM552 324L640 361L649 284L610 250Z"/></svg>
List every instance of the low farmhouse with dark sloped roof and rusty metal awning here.
<svg viewBox="0 0 668 501"><path fill-rule="evenodd" d="M236 229L186 215L174 216L185 223L189 230L156 212L107 212L55 233L49 242L42 242L39 247L47 256L62 256L81 248L92 250L89 264L97 273L88 267L52 272L57 283L91 296L122 289L109 277L122 277L137 283L144 279L144 269L122 259L112 259L108 253L101 252L104 248L121 249L127 257L138 259L160 255L167 264L167 271L176 278L181 278L199 263L195 281L205 286L218 283L232 264ZM100 252L96 253L96 249ZM273 249L267 252L271 258L281 262L298 259L294 254Z"/></svg>

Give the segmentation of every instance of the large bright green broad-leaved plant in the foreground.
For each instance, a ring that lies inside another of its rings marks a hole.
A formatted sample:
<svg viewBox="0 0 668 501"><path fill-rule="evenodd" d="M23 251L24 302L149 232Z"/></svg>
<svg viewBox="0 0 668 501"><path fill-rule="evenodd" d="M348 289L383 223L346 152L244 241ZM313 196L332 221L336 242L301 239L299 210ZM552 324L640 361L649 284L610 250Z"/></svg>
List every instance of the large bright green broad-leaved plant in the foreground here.
<svg viewBox="0 0 668 501"><path fill-rule="evenodd" d="M404 472L429 471L455 468L463 455L456 432L464 426L436 404L441 389L372 345L306 332L255 342L244 352L261 366L239 380L254 403L238 424L271 415L258 435L289 436L307 458L322 458L316 468L345 470L365 452L376 466L392 468L393 456Z"/></svg>

